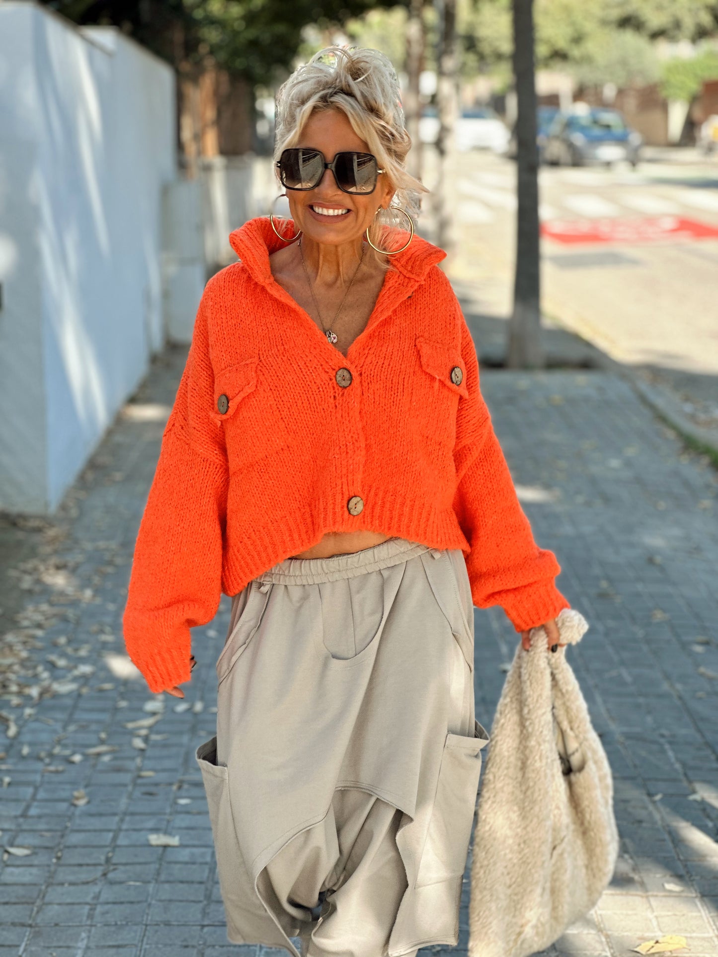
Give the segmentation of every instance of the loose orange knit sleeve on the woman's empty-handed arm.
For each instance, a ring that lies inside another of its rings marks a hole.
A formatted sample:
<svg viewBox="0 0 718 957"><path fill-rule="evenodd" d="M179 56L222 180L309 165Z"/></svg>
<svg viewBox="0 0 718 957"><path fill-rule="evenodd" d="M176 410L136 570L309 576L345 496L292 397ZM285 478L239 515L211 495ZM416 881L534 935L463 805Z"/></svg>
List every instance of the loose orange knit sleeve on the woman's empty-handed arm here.
<svg viewBox="0 0 718 957"><path fill-rule="evenodd" d="M190 629L213 619L222 594L229 471L224 431L210 414L209 288L162 437L123 612L127 654L153 692L190 679Z"/></svg>

